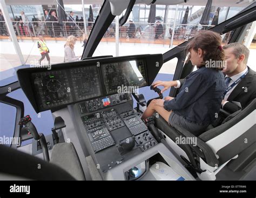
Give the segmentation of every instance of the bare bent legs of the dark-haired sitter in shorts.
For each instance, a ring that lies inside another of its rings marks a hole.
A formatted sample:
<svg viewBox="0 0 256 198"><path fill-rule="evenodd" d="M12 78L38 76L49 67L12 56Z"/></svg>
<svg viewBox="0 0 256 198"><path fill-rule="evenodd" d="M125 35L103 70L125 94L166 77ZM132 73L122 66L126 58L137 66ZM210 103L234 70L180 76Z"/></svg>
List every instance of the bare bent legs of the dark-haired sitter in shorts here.
<svg viewBox="0 0 256 198"><path fill-rule="evenodd" d="M151 117L154 112L158 112L161 117L165 119L165 121L169 122L169 117L172 111L167 111L164 107L154 104L153 100L151 101L149 106L147 106L145 112L142 115L142 119L145 120L146 118Z"/></svg>

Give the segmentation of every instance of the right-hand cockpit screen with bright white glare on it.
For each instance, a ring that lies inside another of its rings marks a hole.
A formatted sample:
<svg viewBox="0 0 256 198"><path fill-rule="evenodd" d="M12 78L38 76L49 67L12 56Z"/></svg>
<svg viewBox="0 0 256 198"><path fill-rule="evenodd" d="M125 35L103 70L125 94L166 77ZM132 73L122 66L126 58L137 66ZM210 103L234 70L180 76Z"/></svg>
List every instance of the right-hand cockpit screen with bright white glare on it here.
<svg viewBox="0 0 256 198"><path fill-rule="evenodd" d="M117 93L124 86L146 86L146 71L143 60L108 63L101 66L107 94Z"/></svg>

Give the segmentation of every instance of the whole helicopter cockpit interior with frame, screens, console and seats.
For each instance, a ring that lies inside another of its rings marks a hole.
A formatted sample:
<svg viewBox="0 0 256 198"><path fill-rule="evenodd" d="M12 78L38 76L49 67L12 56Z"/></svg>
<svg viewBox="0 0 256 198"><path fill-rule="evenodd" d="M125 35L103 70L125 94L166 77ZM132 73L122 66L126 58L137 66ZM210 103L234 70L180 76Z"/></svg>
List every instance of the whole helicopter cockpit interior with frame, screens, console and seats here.
<svg viewBox="0 0 256 198"><path fill-rule="evenodd" d="M8 159L0 166L0 179L11 175L35 180L255 180L256 99L235 113L221 111L226 117L221 125L209 126L200 136L170 126L157 113L147 121L141 119L156 98L146 100L138 90L147 87L152 95L154 91L163 98L159 87L151 85L164 63L178 58L174 80L194 70L185 62L184 47L190 40L164 54L92 57L116 15L126 9L119 20L122 25L135 3L155 2L105 1L82 60L55 64L51 70L17 70L18 81L3 87L1 101L17 107L15 135L22 141L33 139L29 149L36 156L0 145L0 158ZM254 2L210 30L220 34L232 30L231 42L237 42L255 21L255 8ZM39 133L30 115L24 117L23 104L5 97L8 87L21 87L36 113L51 111L52 134ZM178 92L179 88L172 87L169 95L175 97ZM191 142L177 144L177 138ZM245 139L248 144L241 143ZM24 163L13 172L10 167L15 160ZM25 162L30 163L29 171ZM41 174L32 168L38 163L46 167Z"/></svg>

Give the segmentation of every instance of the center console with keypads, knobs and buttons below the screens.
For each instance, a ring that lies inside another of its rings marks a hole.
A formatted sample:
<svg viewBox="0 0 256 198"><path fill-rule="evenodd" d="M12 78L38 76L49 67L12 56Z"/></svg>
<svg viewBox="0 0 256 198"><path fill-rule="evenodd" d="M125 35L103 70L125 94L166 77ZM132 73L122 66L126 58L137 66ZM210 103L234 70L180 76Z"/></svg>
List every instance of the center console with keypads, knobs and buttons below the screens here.
<svg viewBox="0 0 256 198"><path fill-rule="evenodd" d="M80 131L102 173L158 144L132 104L131 94L117 93L76 105Z"/></svg>

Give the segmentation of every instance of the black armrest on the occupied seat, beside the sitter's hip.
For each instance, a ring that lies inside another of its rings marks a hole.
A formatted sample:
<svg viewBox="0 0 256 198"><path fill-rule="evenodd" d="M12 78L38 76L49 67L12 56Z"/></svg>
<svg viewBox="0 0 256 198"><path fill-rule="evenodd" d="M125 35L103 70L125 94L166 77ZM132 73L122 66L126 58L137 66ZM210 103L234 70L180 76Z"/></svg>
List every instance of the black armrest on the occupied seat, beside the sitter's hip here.
<svg viewBox="0 0 256 198"><path fill-rule="evenodd" d="M212 167L219 165L219 160L217 159L216 155L213 153L211 147L208 146L204 141L200 140L197 136L193 135L177 124L174 124L173 127L186 138L196 138L197 146L193 146L192 144L188 145L207 163L207 165Z"/></svg>

